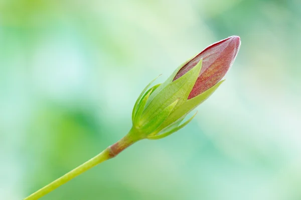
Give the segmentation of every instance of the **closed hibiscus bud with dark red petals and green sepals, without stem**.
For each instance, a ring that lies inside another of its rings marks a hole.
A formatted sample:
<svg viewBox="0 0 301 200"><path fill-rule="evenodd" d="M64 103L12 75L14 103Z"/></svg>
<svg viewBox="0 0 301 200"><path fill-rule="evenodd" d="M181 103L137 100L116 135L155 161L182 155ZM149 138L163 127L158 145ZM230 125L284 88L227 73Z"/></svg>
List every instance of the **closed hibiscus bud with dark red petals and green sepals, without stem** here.
<svg viewBox="0 0 301 200"><path fill-rule="evenodd" d="M150 82L133 108L132 132L141 139L160 139L186 126L195 115L180 123L223 82L239 46L238 36L221 40L182 64L164 83L147 90L155 80Z"/></svg>

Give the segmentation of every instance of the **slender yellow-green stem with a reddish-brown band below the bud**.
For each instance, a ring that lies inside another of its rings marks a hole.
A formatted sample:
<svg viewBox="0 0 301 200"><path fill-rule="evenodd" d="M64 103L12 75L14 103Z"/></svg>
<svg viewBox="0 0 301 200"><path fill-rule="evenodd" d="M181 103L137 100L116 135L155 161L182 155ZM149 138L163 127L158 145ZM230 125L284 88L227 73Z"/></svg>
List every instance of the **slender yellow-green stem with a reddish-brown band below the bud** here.
<svg viewBox="0 0 301 200"><path fill-rule="evenodd" d="M101 153L99 153L95 157L91 158L90 160L81 164L80 166L76 167L75 169L69 171L68 173L66 173L65 175L56 179L55 181L49 183L45 187L39 189L35 193L32 193L28 197L24 198L24 200L34 200L34 199L38 199L38 198L46 195L47 193L58 188L62 184L65 184L72 178L87 171L88 169L98 165L99 163L101 163L105 160L115 157L121 151L123 151L124 149L126 149L127 147L129 147L130 145L132 145L133 143L135 143L141 139L142 138L139 137L139 134L137 134L136 129L132 128L129 131L129 133L126 136L124 136L121 140L119 140L115 144L107 147L105 150L103 150Z"/></svg>

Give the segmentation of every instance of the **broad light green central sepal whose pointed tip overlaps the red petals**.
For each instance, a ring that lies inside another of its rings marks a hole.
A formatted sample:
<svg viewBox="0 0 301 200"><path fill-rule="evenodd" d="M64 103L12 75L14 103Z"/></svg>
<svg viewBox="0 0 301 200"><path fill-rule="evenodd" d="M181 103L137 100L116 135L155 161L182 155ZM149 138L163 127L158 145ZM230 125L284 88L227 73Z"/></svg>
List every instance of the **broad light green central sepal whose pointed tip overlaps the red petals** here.
<svg viewBox="0 0 301 200"><path fill-rule="evenodd" d="M158 89L150 95L150 97L156 95L153 100L149 98L148 103L145 106L145 112L142 116L142 123L149 121L156 117L163 109L168 105L172 104L176 99L179 102L176 108L181 107L187 101L188 95L191 92L202 68L202 59L200 62L189 70L186 74L178 78L177 80L167 84L159 93L156 92L163 83L158 87ZM176 109L175 108L175 109ZM179 118L178 118L179 119ZM164 123L165 124L165 123Z"/></svg>

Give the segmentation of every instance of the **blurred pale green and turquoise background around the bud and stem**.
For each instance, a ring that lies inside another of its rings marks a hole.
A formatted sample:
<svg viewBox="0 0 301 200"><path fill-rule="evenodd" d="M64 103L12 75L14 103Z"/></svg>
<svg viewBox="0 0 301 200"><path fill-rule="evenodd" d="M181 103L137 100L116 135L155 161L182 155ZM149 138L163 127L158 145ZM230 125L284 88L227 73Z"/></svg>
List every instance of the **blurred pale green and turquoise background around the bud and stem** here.
<svg viewBox="0 0 301 200"><path fill-rule="evenodd" d="M231 35L226 81L185 129L42 199L301 199L301 1L0 1L0 199L22 199L131 127L144 86Z"/></svg>

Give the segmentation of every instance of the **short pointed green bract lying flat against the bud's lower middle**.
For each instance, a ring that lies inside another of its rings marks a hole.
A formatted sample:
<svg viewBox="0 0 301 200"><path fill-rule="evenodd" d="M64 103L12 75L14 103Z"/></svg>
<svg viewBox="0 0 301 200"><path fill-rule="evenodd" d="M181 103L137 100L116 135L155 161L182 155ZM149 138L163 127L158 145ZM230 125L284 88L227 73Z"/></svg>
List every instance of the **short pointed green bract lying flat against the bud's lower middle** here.
<svg viewBox="0 0 301 200"><path fill-rule="evenodd" d="M156 129L168 118L168 116L173 112L174 108L178 104L179 99L176 99L175 102L166 107L160 114L153 118L150 122L146 123L145 126L141 125L142 132L145 133L154 133Z"/></svg>

